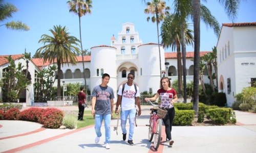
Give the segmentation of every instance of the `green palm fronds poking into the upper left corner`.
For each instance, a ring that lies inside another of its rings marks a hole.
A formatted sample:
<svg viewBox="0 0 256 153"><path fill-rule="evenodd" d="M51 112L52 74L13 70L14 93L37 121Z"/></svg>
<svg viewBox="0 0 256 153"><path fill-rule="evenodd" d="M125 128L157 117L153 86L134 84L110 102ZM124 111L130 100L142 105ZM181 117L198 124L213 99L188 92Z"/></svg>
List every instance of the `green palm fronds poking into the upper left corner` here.
<svg viewBox="0 0 256 153"><path fill-rule="evenodd" d="M17 12L18 9L9 3L3 4L3 0L0 0L0 21L3 21L5 19L11 18L12 14ZM7 22L5 24L1 24L1 26L5 25L7 29L12 30L21 30L21 31L28 31L29 27L25 23L22 23L22 21L11 21Z"/></svg>

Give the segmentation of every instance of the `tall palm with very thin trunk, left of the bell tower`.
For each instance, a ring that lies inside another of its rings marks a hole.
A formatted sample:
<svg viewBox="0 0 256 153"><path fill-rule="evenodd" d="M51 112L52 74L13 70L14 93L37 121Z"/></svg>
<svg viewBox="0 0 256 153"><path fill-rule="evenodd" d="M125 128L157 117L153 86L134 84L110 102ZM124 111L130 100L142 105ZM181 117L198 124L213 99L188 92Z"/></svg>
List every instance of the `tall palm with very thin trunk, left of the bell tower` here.
<svg viewBox="0 0 256 153"><path fill-rule="evenodd" d="M72 0L67 2L69 4L70 10L69 12L73 12L78 15L79 18L79 33L80 33L80 45L81 50L82 49L82 37L81 37L81 17L86 14L91 14L91 8L92 8L92 1L86 0L85 2L83 0ZM82 55L82 68L83 68L83 78L84 78L84 89L86 90L87 94L87 83L86 83L86 72L84 71L84 60L83 60L83 54Z"/></svg>

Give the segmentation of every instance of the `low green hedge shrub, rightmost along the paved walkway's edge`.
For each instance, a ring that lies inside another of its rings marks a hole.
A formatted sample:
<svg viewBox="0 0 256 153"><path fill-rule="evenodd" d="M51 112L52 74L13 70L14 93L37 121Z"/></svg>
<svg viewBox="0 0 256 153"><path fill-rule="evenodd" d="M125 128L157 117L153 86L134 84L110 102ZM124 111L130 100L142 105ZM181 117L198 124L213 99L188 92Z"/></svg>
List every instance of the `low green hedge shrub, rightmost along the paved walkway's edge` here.
<svg viewBox="0 0 256 153"><path fill-rule="evenodd" d="M219 124L237 122L236 114L231 108L209 109L206 113L206 118Z"/></svg>

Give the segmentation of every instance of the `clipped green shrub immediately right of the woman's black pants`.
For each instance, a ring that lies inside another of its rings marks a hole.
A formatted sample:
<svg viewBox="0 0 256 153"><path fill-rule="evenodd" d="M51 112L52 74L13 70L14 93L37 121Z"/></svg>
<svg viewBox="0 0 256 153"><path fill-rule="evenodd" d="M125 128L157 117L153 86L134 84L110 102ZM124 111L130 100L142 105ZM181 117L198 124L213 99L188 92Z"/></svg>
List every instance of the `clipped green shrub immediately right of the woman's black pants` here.
<svg viewBox="0 0 256 153"><path fill-rule="evenodd" d="M173 125L191 125L195 117L194 110L175 110Z"/></svg>

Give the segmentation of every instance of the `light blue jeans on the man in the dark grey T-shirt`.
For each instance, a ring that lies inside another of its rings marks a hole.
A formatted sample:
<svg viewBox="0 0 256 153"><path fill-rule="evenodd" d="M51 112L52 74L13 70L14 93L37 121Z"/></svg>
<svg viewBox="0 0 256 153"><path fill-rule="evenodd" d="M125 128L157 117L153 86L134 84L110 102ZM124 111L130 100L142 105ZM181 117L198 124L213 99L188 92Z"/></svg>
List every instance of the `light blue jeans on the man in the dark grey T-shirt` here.
<svg viewBox="0 0 256 153"><path fill-rule="evenodd" d="M104 143L110 143L110 120L111 120L111 114L103 114L98 115L95 114L95 132L97 137L101 137L101 123L104 119L104 126L105 126L105 142Z"/></svg>

